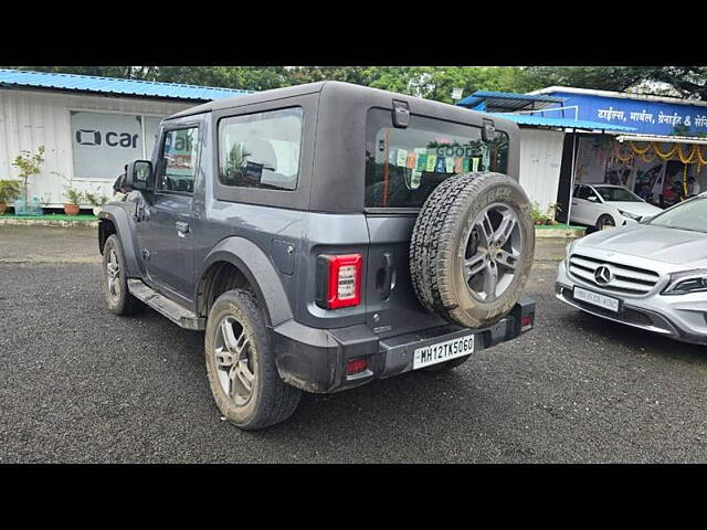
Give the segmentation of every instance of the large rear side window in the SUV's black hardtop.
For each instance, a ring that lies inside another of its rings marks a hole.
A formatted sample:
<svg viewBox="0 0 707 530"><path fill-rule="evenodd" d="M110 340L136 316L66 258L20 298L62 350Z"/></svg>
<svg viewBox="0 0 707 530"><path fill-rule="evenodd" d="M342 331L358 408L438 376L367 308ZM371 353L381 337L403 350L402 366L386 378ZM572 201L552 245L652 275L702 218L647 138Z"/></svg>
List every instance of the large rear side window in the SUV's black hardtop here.
<svg viewBox="0 0 707 530"><path fill-rule="evenodd" d="M224 186L294 190L302 150L302 107L219 121L219 181Z"/></svg>

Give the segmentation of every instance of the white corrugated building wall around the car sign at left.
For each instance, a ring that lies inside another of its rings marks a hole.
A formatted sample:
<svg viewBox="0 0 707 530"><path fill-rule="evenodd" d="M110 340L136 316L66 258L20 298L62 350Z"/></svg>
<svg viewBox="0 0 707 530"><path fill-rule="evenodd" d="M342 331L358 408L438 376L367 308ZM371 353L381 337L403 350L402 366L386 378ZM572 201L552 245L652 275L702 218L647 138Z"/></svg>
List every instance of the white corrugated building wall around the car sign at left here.
<svg viewBox="0 0 707 530"><path fill-rule="evenodd" d="M0 89L0 179L18 178L12 161L21 150L36 152L44 146L42 172L31 179L30 197L39 197L44 206L60 208L67 183L62 176L74 179L72 110L162 118L193 105L197 103ZM149 158L151 153L146 155ZM73 184L110 195L122 169L106 168L99 177L76 178Z"/></svg>

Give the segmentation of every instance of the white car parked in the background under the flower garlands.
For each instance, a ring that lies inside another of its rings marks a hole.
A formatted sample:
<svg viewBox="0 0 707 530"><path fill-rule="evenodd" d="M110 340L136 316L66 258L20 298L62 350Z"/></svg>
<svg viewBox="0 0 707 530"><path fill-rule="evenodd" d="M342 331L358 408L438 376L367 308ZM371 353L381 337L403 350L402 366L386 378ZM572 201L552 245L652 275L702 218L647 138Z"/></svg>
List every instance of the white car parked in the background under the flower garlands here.
<svg viewBox="0 0 707 530"><path fill-rule="evenodd" d="M631 224L662 211L623 186L577 184L572 193L570 223L604 230Z"/></svg>

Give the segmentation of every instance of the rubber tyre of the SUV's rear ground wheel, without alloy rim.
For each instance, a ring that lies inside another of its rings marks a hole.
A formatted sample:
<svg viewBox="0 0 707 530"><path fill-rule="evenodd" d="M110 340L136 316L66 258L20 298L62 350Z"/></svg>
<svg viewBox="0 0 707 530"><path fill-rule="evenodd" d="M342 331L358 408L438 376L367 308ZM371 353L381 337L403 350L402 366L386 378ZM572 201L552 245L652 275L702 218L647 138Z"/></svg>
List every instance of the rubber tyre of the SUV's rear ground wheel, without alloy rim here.
<svg viewBox="0 0 707 530"><path fill-rule="evenodd" d="M247 403L238 406L223 391L217 373L214 344L217 330L225 316L243 326L253 349L253 392ZM255 295L245 289L223 293L211 306L204 337L207 377L221 414L245 431L264 428L287 420L297 409L302 391L283 382L277 373L270 331Z"/></svg>

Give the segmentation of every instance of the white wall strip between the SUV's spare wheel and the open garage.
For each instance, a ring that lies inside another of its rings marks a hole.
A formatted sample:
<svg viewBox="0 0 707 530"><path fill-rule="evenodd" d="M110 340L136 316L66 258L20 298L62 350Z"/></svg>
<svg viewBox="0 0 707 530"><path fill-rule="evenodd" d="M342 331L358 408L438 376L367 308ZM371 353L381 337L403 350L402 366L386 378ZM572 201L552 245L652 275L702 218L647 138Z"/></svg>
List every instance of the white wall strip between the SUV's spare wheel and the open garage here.
<svg viewBox="0 0 707 530"><path fill-rule="evenodd" d="M564 132L520 129L520 186L541 211L557 201Z"/></svg>

